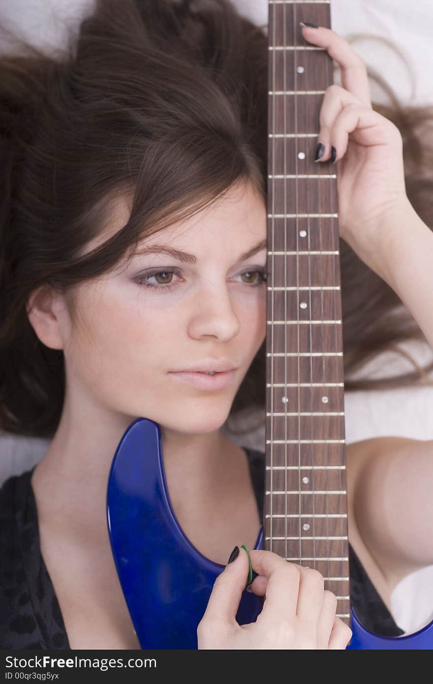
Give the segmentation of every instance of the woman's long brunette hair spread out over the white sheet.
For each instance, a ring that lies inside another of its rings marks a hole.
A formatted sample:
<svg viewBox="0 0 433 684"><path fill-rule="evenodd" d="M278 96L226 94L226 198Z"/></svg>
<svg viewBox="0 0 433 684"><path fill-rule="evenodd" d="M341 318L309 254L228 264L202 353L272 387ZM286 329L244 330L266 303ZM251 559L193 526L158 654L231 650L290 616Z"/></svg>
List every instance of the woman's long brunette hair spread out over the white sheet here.
<svg viewBox="0 0 433 684"><path fill-rule="evenodd" d="M266 202L263 28L229 0L96 0L64 50L20 42L19 54L0 57L1 430L52 438L62 415L64 355L34 332L31 293L64 292L74 315L74 286L109 272L146 235L240 181ZM433 146L421 145L432 109L375 108L402 132L408 197L432 226ZM125 194L127 224L83 256ZM340 246L348 376L397 341L424 338L393 290ZM346 389L427 382L431 367ZM230 417L264 405L265 343Z"/></svg>

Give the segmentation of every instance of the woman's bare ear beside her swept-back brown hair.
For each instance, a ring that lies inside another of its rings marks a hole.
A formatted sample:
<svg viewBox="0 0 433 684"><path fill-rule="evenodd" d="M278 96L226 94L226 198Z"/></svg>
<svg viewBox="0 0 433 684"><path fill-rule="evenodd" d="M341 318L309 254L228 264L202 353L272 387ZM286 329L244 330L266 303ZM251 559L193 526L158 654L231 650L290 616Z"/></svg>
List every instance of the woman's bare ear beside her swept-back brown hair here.
<svg viewBox="0 0 433 684"><path fill-rule="evenodd" d="M27 300L27 316L40 341L50 349L64 349L65 325L69 318L63 295L43 285Z"/></svg>

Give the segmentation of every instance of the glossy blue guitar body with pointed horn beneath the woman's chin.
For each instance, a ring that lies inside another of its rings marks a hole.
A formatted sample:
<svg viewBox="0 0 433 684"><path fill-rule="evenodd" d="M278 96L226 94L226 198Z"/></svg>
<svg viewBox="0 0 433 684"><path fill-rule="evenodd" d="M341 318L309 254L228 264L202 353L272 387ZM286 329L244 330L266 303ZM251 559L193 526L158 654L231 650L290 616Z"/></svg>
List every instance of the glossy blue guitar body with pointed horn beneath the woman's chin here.
<svg viewBox="0 0 433 684"><path fill-rule="evenodd" d="M107 525L120 584L142 648L196 649L200 622L224 566L203 556L179 526L168 497L161 431L139 418L114 454ZM212 534L212 530L209 530ZM261 528L254 549L263 549ZM254 622L263 598L244 591L239 624ZM352 615L350 649L433 648L433 623L405 637L379 637Z"/></svg>

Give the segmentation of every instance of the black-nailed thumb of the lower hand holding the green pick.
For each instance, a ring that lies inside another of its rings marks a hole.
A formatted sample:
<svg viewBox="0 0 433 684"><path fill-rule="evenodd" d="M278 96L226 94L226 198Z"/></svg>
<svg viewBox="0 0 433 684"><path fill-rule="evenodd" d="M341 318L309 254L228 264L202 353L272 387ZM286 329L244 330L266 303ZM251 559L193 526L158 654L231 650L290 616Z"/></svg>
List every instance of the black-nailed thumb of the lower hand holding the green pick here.
<svg viewBox="0 0 433 684"><path fill-rule="evenodd" d="M245 549L241 548L238 557L226 565L215 579L202 620L236 622L236 614L249 569L248 556Z"/></svg>

